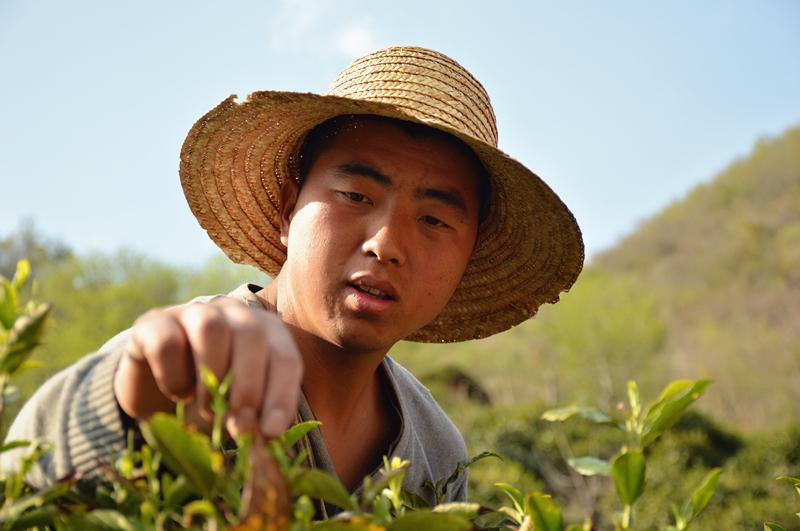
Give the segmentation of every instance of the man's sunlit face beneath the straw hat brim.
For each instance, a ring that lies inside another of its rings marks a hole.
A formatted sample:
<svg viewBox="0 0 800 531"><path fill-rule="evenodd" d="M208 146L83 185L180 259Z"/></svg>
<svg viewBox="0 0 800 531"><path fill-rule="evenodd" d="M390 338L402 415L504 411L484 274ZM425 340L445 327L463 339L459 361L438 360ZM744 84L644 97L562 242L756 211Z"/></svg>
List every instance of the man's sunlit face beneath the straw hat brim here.
<svg viewBox="0 0 800 531"><path fill-rule="evenodd" d="M364 351L433 320L475 245L478 175L449 139L367 118L345 126L284 210L284 320Z"/></svg>

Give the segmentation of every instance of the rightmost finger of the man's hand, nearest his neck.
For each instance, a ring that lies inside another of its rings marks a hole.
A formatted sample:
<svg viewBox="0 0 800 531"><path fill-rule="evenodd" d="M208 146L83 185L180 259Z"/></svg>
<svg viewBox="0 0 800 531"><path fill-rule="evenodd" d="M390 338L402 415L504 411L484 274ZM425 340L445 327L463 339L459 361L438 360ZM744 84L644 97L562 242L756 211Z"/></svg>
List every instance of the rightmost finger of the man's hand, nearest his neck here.
<svg viewBox="0 0 800 531"><path fill-rule="evenodd" d="M303 362L289 329L270 314L273 323L268 336L269 364L261 407L261 432L274 439L289 427L297 411Z"/></svg>

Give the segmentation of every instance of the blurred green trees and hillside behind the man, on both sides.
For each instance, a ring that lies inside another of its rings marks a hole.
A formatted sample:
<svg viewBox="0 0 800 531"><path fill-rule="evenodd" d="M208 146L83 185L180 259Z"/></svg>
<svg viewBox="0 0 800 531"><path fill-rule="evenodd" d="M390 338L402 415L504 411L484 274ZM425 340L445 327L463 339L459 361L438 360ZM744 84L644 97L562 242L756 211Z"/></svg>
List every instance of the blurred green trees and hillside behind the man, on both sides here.
<svg viewBox="0 0 800 531"><path fill-rule="evenodd" d="M623 200L622 198L621 200ZM30 394L55 370L95 350L154 306L225 293L268 279L215 257L194 270L135 253L77 256L30 226L0 240L0 273L30 258L36 296L53 304L37 358L46 370L19 382ZM614 409L625 384L654 395L677 378L714 385L648 455L641 528L665 525L685 498L723 467L700 528L758 528L792 521L800 470L800 128L757 143L708 183L593 258L562 302L504 334L455 345L402 343L392 355L429 385L471 453L472 497L495 481L551 492L571 521L612 504L607 479L569 471L573 455L609 457L613 433L539 414L572 402ZM796 520L796 519L795 519ZM797 527L795 527L797 528Z"/></svg>

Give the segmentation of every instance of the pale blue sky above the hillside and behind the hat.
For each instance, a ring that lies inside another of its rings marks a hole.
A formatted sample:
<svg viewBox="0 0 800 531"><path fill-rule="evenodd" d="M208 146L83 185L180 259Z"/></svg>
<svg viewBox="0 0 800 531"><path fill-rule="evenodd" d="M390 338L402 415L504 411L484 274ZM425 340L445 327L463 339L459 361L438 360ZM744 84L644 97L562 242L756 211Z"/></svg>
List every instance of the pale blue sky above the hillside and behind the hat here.
<svg viewBox="0 0 800 531"><path fill-rule="evenodd" d="M800 124L800 2L0 2L0 236L195 265L178 181L228 94L323 92L355 57L437 49L487 88L500 147L571 207L591 254Z"/></svg>

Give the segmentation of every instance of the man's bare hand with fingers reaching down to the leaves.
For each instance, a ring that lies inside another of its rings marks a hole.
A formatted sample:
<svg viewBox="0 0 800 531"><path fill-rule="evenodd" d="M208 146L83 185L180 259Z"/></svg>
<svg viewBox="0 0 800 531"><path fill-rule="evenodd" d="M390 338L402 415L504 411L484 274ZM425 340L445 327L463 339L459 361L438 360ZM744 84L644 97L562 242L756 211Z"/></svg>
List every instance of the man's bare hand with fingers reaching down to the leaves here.
<svg viewBox="0 0 800 531"><path fill-rule="evenodd" d="M303 374L294 338L278 315L228 297L139 317L114 377L114 395L135 419L173 412L176 402L185 402L210 420L200 365L220 380L233 371L226 420L232 434L260 427L273 438L294 419Z"/></svg>

